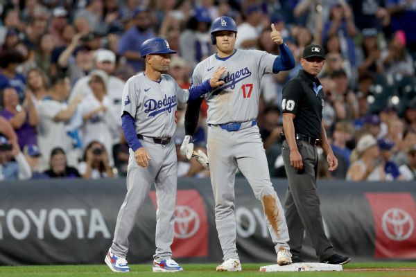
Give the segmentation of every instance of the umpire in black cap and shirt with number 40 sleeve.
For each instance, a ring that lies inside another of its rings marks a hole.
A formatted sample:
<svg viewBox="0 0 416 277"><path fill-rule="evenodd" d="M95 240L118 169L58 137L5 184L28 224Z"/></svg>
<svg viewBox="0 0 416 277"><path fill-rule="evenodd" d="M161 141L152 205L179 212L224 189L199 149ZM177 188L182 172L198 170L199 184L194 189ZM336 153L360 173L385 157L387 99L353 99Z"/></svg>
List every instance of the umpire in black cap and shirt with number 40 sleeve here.
<svg viewBox="0 0 416 277"><path fill-rule="evenodd" d="M350 259L335 253L324 233L316 186L317 146L327 153L329 171L338 166L322 124L324 93L316 76L322 70L324 60L321 46L306 46L300 59L302 69L283 88L282 156L289 182L285 216L293 262L303 262L299 257L306 229L320 262L344 265Z"/></svg>

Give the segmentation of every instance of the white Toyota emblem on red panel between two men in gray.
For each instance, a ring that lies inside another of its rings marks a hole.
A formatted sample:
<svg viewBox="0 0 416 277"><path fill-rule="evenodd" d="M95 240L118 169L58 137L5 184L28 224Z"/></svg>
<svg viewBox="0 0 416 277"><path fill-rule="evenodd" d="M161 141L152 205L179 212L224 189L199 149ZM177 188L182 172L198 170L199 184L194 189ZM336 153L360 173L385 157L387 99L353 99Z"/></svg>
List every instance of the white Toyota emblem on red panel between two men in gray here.
<svg viewBox="0 0 416 277"><path fill-rule="evenodd" d="M175 238L191 238L198 232L200 219L198 213L189 206L176 206L175 208Z"/></svg>

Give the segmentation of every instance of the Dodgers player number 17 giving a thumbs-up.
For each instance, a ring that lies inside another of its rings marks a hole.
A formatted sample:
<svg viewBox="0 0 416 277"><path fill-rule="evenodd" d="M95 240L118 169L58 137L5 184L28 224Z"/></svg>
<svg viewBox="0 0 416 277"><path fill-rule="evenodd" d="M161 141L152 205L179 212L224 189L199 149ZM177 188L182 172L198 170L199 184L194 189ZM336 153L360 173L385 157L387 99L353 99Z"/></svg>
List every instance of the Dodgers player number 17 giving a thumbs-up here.
<svg viewBox="0 0 416 277"><path fill-rule="evenodd" d="M257 114L259 112L260 80L266 73L292 69L295 60L280 33L272 24L271 39L279 44L281 55L257 50L234 48L237 28L231 17L218 17L211 25L211 40L218 52L200 62L192 76L192 86L210 78L218 66L227 67L223 86L205 95L208 105L207 150L211 185L215 199L216 228L223 249L223 264L217 271L241 271L236 251L234 217L234 179L237 168L248 179L254 195L261 201L268 229L275 243L277 263L292 262L288 247L288 229L279 198L270 181L266 152L261 142ZM190 159L192 135L198 123L202 98L189 102L185 114L186 134L182 154Z"/></svg>

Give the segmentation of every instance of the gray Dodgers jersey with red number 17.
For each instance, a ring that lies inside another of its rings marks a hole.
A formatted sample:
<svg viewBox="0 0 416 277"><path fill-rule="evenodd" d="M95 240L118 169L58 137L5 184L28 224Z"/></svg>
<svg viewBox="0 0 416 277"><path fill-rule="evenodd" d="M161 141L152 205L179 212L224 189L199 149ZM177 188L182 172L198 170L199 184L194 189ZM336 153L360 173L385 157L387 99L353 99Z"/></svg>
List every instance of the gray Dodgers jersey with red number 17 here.
<svg viewBox="0 0 416 277"><path fill-rule="evenodd" d="M225 66L225 84L205 94L208 105L208 124L245 122L259 114L260 80L272 73L276 55L259 50L236 49L229 57L217 54L200 62L192 75L192 86L211 78L219 66Z"/></svg>

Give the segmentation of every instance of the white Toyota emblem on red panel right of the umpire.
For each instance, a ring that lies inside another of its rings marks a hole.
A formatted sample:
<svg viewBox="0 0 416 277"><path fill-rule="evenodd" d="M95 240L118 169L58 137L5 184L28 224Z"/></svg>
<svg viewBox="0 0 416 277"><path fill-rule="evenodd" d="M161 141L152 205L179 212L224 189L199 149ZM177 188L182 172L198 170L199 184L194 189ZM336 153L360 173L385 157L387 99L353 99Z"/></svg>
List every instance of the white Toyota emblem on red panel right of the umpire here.
<svg viewBox="0 0 416 277"><path fill-rule="evenodd" d="M413 233L413 218L401 208L389 208L381 219L383 232L390 240L407 240Z"/></svg>

